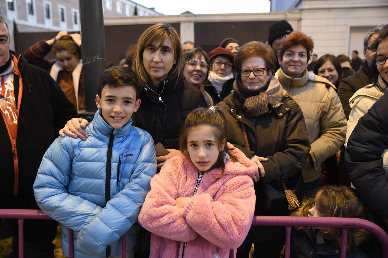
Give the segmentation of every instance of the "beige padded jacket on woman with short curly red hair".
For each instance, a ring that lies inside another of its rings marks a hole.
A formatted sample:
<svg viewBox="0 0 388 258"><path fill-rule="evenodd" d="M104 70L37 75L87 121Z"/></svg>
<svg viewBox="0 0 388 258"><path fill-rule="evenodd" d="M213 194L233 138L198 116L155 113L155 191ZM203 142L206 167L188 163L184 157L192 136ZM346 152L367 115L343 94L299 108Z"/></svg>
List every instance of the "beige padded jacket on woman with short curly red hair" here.
<svg viewBox="0 0 388 258"><path fill-rule="evenodd" d="M309 159L302 169L306 183L318 179L321 164L336 154L346 135L346 118L335 86L327 79L308 73L291 79L282 68L275 77L302 109L311 149Z"/></svg>

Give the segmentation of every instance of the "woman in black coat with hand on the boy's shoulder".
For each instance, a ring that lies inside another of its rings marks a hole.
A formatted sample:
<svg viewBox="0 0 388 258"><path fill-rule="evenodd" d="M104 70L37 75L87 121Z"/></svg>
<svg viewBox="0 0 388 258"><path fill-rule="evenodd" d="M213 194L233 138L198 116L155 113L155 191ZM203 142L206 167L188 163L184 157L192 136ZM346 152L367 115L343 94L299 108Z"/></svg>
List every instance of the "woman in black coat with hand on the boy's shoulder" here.
<svg viewBox="0 0 388 258"><path fill-rule="evenodd" d="M150 133L155 143L160 142L168 150L168 155L156 157L158 168L180 153L178 138L186 116L193 109L206 106L199 89L185 83L182 67L182 44L174 27L159 23L143 32L132 62L142 84L142 104L132 115L132 125ZM87 133L82 129L85 125L86 120L72 119L60 134L86 139Z"/></svg>

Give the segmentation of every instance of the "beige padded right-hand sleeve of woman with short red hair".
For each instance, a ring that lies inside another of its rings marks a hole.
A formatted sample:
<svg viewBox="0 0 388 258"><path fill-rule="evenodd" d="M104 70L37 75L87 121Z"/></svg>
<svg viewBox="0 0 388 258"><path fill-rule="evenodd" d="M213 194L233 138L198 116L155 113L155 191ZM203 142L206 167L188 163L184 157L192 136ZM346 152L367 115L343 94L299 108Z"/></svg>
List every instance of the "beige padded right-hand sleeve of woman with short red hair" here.
<svg viewBox="0 0 388 258"><path fill-rule="evenodd" d="M336 154L345 142L346 118L340 98L332 87L320 117L320 133L320 137L311 144L310 157L314 168Z"/></svg>

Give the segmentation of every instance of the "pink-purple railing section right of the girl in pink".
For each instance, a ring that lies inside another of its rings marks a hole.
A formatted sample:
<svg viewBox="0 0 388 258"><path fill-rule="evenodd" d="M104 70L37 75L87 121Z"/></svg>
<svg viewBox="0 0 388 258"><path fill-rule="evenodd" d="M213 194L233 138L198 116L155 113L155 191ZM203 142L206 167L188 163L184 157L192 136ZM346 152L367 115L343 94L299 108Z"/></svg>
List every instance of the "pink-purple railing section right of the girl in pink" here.
<svg viewBox="0 0 388 258"><path fill-rule="evenodd" d="M364 220L354 218L330 218L330 217L282 217L282 216L254 216L252 226L283 226L286 227L285 258L290 255L291 227L341 227L342 244L341 258L346 258L347 236L349 228L365 229L379 239L383 247L383 258L388 258L388 235L381 227ZM230 250L230 258L234 258L234 250Z"/></svg>

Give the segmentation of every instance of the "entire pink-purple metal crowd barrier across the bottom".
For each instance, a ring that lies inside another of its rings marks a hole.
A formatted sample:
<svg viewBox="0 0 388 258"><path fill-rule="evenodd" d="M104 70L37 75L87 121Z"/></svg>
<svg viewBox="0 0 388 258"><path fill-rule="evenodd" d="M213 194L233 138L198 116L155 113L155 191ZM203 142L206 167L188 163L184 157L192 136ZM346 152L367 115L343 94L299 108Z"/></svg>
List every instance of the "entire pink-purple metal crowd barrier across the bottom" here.
<svg viewBox="0 0 388 258"><path fill-rule="evenodd" d="M0 218L18 219L19 224L19 258L23 258L23 222L24 219L51 219L41 210L15 210L0 209ZM282 217L282 216L254 216L252 226L281 226L286 227L286 249L285 258L289 258L291 227L341 227L342 244L341 258L346 258L347 235L349 228L365 229L380 241L383 247L383 258L388 258L388 235L376 224L354 218L330 218L330 217ZM74 258L73 231L69 229L69 258ZM70 241L71 239L71 241ZM125 234L121 236L121 257L126 257L126 239ZM235 257L235 250L230 250L230 258Z"/></svg>

